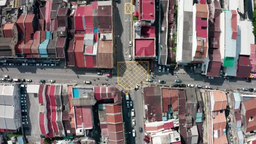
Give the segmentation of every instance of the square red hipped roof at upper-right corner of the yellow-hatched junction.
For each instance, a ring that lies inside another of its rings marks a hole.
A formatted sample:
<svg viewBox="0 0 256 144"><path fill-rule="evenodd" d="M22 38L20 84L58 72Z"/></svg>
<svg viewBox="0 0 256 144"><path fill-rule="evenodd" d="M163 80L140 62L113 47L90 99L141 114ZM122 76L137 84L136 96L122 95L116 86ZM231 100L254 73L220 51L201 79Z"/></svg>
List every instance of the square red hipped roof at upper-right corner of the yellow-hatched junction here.
<svg viewBox="0 0 256 144"><path fill-rule="evenodd" d="M135 56L155 56L155 39L135 39Z"/></svg>

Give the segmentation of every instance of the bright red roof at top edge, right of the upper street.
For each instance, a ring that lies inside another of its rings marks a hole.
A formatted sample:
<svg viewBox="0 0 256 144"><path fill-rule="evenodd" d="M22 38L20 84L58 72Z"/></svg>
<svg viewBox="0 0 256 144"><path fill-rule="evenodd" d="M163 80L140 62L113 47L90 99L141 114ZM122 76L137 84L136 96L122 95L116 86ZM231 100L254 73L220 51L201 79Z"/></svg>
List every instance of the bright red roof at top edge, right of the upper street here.
<svg viewBox="0 0 256 144"><path fill-rule="evenodd" d="M155 20L155 0L142 1L142 20Z"/></svg>

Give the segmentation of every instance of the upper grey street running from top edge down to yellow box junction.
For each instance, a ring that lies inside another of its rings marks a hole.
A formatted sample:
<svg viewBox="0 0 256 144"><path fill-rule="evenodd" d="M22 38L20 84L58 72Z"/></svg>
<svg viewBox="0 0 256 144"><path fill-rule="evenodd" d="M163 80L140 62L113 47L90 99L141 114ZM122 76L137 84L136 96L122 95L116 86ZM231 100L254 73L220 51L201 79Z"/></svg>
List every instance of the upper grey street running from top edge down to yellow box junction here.
<svg viewBox="0 0 256 144"><path fill-rule="evenodd" d="M131 55L131 47L129 41L131 41L131 14L125 14L125 3L131 3L131 0L120 0L116 9L116 23L117 28L115 38L117 40L117 60L129 61L129 55ZM131 5L132 7L132 5ZM126 7L127 8L127 7Z"/></svg>

